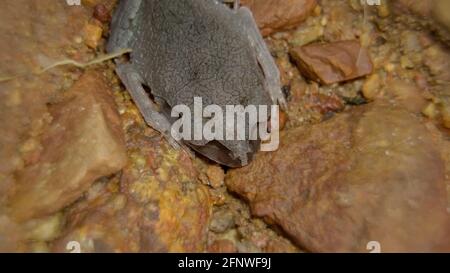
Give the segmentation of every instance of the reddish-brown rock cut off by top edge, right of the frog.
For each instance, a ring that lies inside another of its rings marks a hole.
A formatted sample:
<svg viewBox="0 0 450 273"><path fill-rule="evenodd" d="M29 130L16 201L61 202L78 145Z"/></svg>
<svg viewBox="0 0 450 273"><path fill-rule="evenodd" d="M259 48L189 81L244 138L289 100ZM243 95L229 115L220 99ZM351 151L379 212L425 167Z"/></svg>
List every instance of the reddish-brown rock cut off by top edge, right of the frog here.
<svg viewBox="0 0 450 273"><path fill-rule="evenodd" d="M241 0L241 3L253 12L263 36L299 25L317 5L316 0Z"/></svg>

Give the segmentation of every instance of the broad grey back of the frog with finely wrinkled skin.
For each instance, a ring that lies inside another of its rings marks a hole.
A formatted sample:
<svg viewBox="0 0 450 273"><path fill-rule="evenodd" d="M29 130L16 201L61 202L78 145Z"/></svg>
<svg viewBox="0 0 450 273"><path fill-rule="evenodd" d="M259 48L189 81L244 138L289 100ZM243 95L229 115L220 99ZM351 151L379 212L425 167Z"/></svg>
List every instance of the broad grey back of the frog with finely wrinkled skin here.
<svg viewBox="0 0 450 273"><path fill-rule="evenodd" d="M128 0L129 1L129 0ZM264 75L241 21L213 0L145 0L128 40L132 62L170 106L268 104Z"/></svg>

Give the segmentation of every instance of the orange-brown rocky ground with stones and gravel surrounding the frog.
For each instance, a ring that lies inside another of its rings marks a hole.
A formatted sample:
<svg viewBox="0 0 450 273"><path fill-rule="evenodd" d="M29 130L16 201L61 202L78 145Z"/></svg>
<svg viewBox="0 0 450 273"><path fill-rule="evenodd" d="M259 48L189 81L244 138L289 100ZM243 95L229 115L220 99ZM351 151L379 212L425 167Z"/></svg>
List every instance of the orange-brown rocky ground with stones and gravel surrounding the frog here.
<svg viewBox="0 0 450 273"><path fill-rule="evenodd" d="M0 251L450 251L448 1L241 0L281 72L280 149L225 170L141 118L115 1L0 9Z"/></svg>

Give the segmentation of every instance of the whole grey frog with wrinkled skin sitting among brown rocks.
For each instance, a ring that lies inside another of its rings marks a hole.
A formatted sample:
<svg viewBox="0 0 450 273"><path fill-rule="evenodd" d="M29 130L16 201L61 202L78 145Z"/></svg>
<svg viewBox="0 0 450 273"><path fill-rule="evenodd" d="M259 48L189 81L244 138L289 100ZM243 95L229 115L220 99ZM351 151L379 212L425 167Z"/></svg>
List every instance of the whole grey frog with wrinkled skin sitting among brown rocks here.
<svg viewBox="0 0 450 273"><path fill-rule="evenodd" d="M203 105L284 105L279 72L246 8L215 0L122 0L108 51L130 48L117 72L146 122L175 144L170 109ZM154 100L150 100L147 86ZM192 110L193 113L193 110ZM259 141L185 141L230 167L248 163Z"/></svg>

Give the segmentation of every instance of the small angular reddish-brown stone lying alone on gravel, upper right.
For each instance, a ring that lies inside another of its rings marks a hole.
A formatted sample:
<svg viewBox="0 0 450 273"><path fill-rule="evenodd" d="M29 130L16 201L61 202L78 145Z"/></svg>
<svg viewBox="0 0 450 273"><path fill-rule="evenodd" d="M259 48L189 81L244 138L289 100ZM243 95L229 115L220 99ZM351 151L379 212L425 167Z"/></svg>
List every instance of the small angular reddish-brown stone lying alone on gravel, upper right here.
<svg viewBox="0 0 450 273"><path fill-rule="evenodd" d="M290 53L304 76L323 84L362 77L373 69L368 51L356 40L310 44Z"/></svg>

